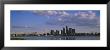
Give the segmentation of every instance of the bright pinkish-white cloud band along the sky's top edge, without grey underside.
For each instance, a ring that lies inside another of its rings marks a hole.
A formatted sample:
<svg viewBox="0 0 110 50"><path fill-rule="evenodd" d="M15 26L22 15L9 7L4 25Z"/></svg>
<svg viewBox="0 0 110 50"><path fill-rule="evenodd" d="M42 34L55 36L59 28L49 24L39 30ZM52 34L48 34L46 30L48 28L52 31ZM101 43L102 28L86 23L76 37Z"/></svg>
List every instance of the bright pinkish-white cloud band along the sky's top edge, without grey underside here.
<svg viewBox="0 0 110 50"><path fill-rule="evenodd" d="M73 13L72 14L69 14L67 13L66 11L63 11L63 10L34 10L33 11L34 13L36 14L39 14L39 15L43 15L43 16L47 16L47 17L71 17L71 16L76 16L76 17L79 17L81 19L95 19L96 17L96 13L93 12L93 11L86 11L86 12L83 12L83 11L79 11L79 12L76 12L76 13Z"/></svg>

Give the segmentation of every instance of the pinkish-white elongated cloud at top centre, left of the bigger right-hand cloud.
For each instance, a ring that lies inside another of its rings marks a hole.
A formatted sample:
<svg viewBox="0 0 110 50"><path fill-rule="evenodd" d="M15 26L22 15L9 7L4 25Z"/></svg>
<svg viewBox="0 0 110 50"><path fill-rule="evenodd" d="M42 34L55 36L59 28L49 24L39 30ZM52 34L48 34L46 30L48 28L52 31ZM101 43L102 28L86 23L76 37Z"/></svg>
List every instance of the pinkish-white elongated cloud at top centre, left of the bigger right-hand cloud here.
<svg viewBox="0 0 110 50"><path fill-rule="evenodd" d="M43 16L55 16L55 17L65 17L69 14L63 10L34 10L33 13L43 15Z"/></svg>

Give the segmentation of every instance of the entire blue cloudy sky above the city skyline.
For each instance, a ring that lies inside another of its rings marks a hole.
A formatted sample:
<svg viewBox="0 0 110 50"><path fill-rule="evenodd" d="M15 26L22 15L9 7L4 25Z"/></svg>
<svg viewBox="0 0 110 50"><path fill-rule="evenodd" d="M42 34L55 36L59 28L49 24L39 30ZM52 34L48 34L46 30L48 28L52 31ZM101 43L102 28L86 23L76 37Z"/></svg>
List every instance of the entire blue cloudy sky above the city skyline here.
<svg viewBox="0 0 110 50"><path fill-rule="evenodd" d="M11 32L100 32L100 10L11 10Z"/></svg>

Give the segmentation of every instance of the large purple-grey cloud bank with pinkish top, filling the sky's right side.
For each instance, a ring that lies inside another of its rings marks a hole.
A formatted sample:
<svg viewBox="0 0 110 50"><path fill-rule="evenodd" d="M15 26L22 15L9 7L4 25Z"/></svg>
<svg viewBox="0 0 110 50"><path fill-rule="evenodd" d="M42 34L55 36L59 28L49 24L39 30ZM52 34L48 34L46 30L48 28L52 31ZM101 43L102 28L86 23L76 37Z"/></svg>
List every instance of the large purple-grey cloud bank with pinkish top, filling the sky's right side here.
<svg viewBox="0 0 110 50"><path fill-rule="evenodd" d="M50 22L52 25L76 25L76 26L88 26L88 27L99 27L100 17L96 16L93 11L76 12L73 15L69 14L67 17L60 17L58 21ZM49 24L50 24L49 23Z"/></svg>

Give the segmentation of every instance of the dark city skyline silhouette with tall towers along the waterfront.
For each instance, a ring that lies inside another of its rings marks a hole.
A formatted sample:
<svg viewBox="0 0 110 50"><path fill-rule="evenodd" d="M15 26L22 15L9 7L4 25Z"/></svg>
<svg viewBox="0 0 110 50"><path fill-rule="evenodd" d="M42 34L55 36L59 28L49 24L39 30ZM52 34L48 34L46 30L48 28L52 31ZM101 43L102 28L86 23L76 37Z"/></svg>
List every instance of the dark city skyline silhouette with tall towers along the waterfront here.
<svg viewBox="0 0 110 50"><path fill-rule="evenodd" d="M61 34L60 34L61 32ZM15 32L16 33L16 32ZM100 33L76 33L75 29L73 28L68 28L68 26L63 27L62 30L50 30L49 33L44 33L44 34L37 34L37 32L32 32L32 34L11 34L11 37L21 37L21 36L48 36L48 35L52 35L52 36L67 36L67 39L69 38L68 36L100 36ZM65 38L64 38L65 39ZM69 38L70 39L70 38Z"/></svg>

